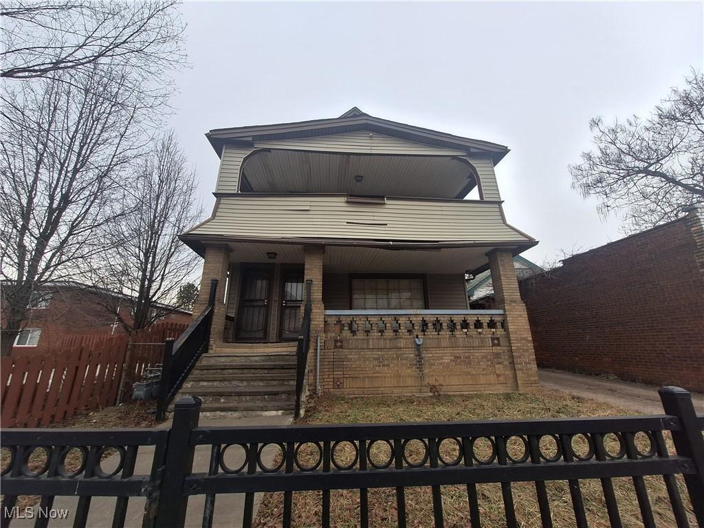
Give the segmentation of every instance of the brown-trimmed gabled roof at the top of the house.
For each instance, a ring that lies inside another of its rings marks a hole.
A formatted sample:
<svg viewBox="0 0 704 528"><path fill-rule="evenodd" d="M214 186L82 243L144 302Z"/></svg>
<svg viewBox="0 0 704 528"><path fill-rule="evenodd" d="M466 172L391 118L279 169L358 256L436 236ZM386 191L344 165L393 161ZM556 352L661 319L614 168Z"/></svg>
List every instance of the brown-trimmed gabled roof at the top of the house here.
<svg viewBox="0 0 704 528"><path fill-rule="evenodd" d="M350 108L339 118L277 123L274 125L216 128L210 130L206 137L215 152L220 156L224 144L251 145L256 141L344 134L358 130L369 130L370 132L386 134L420 144L459 149L468 154L491 156L494 165L501 161L509 150L508 147L496 143L375 118L373 115L364 113L356 106Z"/></svg>

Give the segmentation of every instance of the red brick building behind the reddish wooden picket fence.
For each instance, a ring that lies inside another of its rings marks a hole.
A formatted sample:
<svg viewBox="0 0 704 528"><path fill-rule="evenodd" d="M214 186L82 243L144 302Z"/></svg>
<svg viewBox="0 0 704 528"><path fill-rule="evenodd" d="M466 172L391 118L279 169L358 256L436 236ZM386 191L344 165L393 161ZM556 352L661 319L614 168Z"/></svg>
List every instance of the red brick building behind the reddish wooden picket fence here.
<svg viewBox="0 0 704 528"><path fill-rule="evenodd" d="M106 303L106 296L117 300ZM27 306L25 327L15 339L13 356L34 356L56 352L65 337L82 334L126 333L109 305L119 305L120 314L131 322L130 299L116 292L96 289L74 281L44 284L34 291ZM191 313L171 306L158 305L152 310L163 310L163 320L189 324ZM155 315L157 315L155 313ZM4 325L4 320L2 322Z"/></svg>

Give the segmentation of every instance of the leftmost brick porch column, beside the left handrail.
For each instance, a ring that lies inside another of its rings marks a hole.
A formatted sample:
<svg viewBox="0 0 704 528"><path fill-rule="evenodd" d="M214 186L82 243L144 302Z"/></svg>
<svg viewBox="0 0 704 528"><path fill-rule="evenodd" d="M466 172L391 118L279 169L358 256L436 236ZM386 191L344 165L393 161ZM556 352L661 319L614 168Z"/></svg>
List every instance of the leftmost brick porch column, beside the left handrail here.
<svg viewBox="0 0 704 528"><path fill-rule="evenodd" d="M215 309L213 310L213 323L210 326L211 350L218 343L222 343L225 332L225 287L227 286L227 268L230 266L230 248L227 246L206 246L206 258L203 262L203 275L201 276L201 289L198 300L193 306L194 318L208 306L210 292L210 279L218 279L218 291L215 294Z"/></svg>

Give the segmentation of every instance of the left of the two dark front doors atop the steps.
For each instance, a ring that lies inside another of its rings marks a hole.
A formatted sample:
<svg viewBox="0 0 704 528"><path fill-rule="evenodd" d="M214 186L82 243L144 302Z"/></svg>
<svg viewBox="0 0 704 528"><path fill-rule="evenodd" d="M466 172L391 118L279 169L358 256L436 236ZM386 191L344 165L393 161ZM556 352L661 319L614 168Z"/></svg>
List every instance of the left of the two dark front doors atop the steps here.
<svg viewBox="0 0 704 528"><path fill-rule="evenodd" d="M237 315L237 341L265 341L269 322L271 269L249 268L242 275Z"/></svg>

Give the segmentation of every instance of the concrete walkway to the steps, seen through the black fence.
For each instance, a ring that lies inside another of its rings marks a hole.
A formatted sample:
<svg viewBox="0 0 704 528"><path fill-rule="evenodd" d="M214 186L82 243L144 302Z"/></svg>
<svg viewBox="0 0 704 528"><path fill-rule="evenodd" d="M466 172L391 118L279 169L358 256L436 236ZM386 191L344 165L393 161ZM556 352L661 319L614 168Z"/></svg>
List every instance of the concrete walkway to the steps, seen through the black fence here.
<svg viewBox="0 0 704 528"><path fill-rule="evenodd" d="M254 425L289 425L291 423L291 415L284 416L265 416L265 417L249 417L249 418L201 418L200 427L239 427L239 426L254 426ZM170 427L170 420L164 422L162 427ZM228 451L227 465L229 467L239 467L244 463L244 455L241 449L232 450L232 455ZM272 465L272 459L275 457L278 450L275 446L267 446L262 452L262 463L267 466ZM151 463L154 455L153 446L145 446L139 449L137 453L137 463L134 467L135 475L149 475L151 472ZM103 467L114 467L117 462L117 455L103 460ZM112 460L112 465L111 465ZM208 463L210 461L210 446L196 447L193 467L194 472L208 472ZM254 512L259 507L260 494L254 498ZM203 524L203 503L205 496L193 496L188 499L188 510L186 515L186 526L188 528L200 528ZM73 526L73 515L75 514L77 497L56 497L54 501L54 510L68 510L68 517L63 520L53 519L49 521L49 527L71 527ZM144 514L143 497L130 498L127 508L127 517L125 519L125 527L139 528L142 526L142 515ZM38 504L35 508L38 508ZM240 526L242 522L242 512L244 510L244 494L218 494L215 498L215 512L213 515L213 527L231 528ZM91 528L110 528L112 526L113 513L115 511L114 497L94 497L92 498L88 521L86 526ZM15 519L11 526L15 527L33 527L34 520L30 519Z"/></svg>

